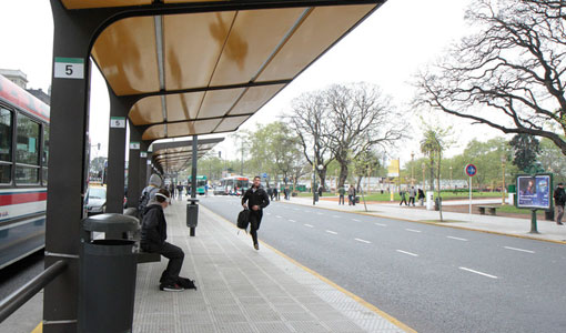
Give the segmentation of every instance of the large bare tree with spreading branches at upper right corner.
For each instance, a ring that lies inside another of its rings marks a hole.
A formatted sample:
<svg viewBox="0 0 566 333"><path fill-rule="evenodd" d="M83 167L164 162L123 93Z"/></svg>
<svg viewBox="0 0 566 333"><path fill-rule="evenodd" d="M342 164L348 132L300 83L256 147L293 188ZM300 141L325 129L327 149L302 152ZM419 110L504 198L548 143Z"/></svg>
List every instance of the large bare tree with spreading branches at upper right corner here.
<svg viewBox="0 0 566 333"><path fill-rule="evenodd" d="M475 0L466 20L477 32L418 75L415 104L548 138L566 154L564 9L566 1Z"/></svg>

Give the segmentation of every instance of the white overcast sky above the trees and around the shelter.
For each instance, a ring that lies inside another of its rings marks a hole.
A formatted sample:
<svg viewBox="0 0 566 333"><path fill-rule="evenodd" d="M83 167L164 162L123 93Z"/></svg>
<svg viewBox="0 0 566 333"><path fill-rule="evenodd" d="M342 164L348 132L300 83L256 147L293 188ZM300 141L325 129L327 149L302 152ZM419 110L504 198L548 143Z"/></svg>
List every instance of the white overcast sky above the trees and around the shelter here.
<svg viewBox="0 0 566 333"><path fill-rule="evenodd" d="M289 110L290 101L301 92L317 90L335 82L367 81L380 85L394 102L404 107L413 97L408 84L418 68L442 56L451 42L466 33L463 17L469 0L390 0L350 36L314 63L301 77L257 112L242 129L267 123ZM28 88L48 90L51 83L53 22L48 0L0 1L2 48L0 68L20 69L28 75ZM403 109L402 109L403 110ZM108 149L109 101L105 83L94 69L91 85L91 142ZM420 120L407 111L414 124L412 140L403 143L402 163L411 151L418 153ZM455 125L458 144L448 154L458 153L473 138L501 135L487 127L468 124L445 114L435 121ZM472 137L473 135L473 137ZM234 143L218 147L223 158L236 158ZM393 154L395 155L395 153Z"/></svg>

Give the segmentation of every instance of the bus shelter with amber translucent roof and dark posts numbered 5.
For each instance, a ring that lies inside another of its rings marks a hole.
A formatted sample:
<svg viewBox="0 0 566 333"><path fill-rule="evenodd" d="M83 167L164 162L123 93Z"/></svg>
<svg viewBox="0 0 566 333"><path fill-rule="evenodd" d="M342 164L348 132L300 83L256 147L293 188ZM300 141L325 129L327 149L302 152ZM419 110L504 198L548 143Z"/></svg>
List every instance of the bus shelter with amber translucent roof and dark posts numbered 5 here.
<svg viewBox="0 0 566 333"><path fill-rule="evenodd" d="M144 181L153 141L237 130L385 2L50 1L54 40L46 266L67 261L67 269L44 289L47 333L78 331L92 65L110 93L109 194L123 191L125 153L129 192L134 192Z"/></svg>

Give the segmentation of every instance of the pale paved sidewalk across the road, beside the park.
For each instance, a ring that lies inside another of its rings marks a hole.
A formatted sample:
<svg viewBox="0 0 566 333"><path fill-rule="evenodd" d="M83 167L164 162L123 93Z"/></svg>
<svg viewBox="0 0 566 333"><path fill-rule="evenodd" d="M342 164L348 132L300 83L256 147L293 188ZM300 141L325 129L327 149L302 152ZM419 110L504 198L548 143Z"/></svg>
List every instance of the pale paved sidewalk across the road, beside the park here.
<svg viewBox="0 0 566 333"><path fill-rule="evenodd" d="M291 200L281 202L313 205L312 198L291 198ZM487 203L486 200L473 201L474 204ZM497 201L499 202L499 201ZM439 214L437 211L427 211L422 209L414 209L411 206L400 206L398 203L373 203L367 204L368 212L364 210L364 203L360 202L355 206L338 205L336 201L320 200L317 208L331 209L337 211L356 212L363 214L371 214L376 216L401 219L415 222L434 223L437 221ZM542 241L552 241L566 244L566 225L557 225L552 221L538 221L538 234L532 234L530 231L530 216L525 219L504 218L493 215L466 214L466 213L452 213L443 212L444 220L451 220L449 223L434 223L443 226L471 229L483 232L493 232L499 234L507 234L519 238L536 239Z"/></svg>

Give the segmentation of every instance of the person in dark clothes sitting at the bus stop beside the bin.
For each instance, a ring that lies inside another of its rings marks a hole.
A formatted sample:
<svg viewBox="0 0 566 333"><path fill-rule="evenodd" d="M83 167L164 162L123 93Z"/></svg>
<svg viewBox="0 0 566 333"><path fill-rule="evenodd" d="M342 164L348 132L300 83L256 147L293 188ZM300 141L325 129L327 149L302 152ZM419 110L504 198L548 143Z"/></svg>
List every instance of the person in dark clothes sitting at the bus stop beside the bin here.
<svg viewBox="0 0 566 333"><path fill-rule="evenodd" d="M142 228L140 248L145 252L159 253L169 259L166 269L159 280L159 289L162 291L183 291L185 289L196 289L194 281L179 276L183 266L184 252L181 248L166 242L168 224L163 210L169 206L170 193L161 189L145 208Z"/></svg>

